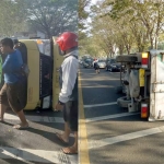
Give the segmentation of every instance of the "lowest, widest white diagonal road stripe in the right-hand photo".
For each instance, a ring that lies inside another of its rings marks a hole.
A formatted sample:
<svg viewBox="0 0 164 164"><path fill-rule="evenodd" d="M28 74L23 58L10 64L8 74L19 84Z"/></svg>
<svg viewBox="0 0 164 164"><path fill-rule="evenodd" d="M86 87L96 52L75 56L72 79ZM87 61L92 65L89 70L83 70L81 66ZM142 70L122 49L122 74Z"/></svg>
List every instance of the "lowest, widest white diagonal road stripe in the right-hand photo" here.
<svg viewBox="0 0 164 164"><path fill-rule="evenodd" d="M155 133L161 133L161 132L164 132L164 126L157 127L157 128L151 128L147 130L141 130L137 132L131 132L127 134L121 134L121 136L117 136L113 138L106 138L102 140L92 140L89 142L89 149L96 149L96 148L101 148L101 147L105 147L109 144L115 144L118 142L124 142L124 141L142 138L142 137L147 137L147 136L151 136Z"/></svg>

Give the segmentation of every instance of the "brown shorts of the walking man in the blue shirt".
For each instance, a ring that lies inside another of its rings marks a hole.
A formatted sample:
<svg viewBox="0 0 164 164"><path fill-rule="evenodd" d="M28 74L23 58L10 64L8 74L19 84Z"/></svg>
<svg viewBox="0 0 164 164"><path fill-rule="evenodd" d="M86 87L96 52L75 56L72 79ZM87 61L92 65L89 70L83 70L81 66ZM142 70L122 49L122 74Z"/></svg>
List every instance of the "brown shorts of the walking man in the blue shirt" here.
<svg viewBox="0 0 164 164"><path fill-rule="evenodd" d="M26 83L13 83L7 84L4 83L0 91L0 104L9 106L13 112L21 112L25 105L27 99L27 85Z"/></svg>

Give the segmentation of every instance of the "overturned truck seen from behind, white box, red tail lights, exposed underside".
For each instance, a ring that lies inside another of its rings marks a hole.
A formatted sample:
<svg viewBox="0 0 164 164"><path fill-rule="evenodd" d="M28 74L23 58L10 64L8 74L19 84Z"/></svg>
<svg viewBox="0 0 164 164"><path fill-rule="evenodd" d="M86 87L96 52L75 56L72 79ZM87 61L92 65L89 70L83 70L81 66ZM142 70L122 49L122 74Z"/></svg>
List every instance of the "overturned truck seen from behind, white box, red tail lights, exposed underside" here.
<svg viewBox="0 0 164 164"><path fill-rule="evenodd" d="M149 121L164 120L164 51L118 56L118 62L126 65L122 85L126 96L117 104L129 112L140 112Z"/></svg>

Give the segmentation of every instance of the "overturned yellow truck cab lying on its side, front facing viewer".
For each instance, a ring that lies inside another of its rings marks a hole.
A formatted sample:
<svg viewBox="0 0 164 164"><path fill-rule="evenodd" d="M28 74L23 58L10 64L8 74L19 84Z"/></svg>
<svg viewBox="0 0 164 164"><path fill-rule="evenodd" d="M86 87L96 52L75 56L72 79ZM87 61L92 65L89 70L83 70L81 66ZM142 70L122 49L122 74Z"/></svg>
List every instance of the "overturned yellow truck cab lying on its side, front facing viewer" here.
<svg viewBox="0 0 164 164"><path fill-rule="evenodd" d="M55 110L59 94L59 67L63 57L59 55L56 37L51 39L20 39L17 49L28 66L26 110ZM4 59L3 59L4 60ZM0 70L2 73L2 70ZM2 86L3 80L1 82Z"/></svg>

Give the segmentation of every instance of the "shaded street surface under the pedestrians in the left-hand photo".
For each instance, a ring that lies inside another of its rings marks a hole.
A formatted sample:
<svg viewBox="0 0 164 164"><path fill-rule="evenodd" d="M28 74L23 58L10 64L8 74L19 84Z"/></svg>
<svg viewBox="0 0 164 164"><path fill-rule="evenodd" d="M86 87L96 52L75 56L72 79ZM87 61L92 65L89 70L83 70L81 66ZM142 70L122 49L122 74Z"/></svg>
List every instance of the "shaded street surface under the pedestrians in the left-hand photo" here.
<svg viewBox="0 0 164 164"><path fill-rule="evenodd" d="M66 155L56 132L63 130L61 112L25 112L30 129L16 130L12 126L19 118L7 110L5 122L0 122L0 164L77 164L78 155ZM71 134L70 144L73 143Z"/></svg>

